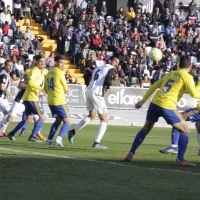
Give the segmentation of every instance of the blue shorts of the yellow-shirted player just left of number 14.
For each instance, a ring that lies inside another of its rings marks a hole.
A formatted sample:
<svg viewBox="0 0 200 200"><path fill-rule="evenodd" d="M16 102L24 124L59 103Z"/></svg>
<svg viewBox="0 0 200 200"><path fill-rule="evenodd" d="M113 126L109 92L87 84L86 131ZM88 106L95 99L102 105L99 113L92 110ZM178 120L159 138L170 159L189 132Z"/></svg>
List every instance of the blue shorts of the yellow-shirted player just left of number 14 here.
<svg viewBox="0 0 200 200"><path fill-rule="evenodd" d="M41 115L44 114L43 105L39 101L24 101L25 111L24 114L28 115Z"/></svg>

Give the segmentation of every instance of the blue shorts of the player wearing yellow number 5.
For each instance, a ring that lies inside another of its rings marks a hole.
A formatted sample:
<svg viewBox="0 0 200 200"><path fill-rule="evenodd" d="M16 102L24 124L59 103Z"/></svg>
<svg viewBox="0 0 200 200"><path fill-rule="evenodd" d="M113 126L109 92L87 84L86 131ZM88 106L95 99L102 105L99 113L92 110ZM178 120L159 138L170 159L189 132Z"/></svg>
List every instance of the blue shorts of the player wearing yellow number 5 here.
<svg viewBox="0 0 200 200"><path fill-rule="evenodd" d="M157 122L159 117L163 117L168 124L176 124L183 121L183 117L177 110L169 110L150 103L147 111L146 120Z"/></svg>

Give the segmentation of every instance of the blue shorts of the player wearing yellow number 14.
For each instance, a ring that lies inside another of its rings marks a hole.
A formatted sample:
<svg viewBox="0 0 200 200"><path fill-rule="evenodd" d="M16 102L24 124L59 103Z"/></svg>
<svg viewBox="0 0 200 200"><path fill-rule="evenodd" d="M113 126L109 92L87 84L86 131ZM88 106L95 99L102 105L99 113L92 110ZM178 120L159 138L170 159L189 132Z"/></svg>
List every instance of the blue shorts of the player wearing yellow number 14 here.
<svg viewBox="0 0 200 200"><path fill-rule="evenodd" d="M58 106L49 105L49 108L51 110L52 117L54 118L58 117L59 119L65 119L70 117L66 105L58 105Z"/></svg>

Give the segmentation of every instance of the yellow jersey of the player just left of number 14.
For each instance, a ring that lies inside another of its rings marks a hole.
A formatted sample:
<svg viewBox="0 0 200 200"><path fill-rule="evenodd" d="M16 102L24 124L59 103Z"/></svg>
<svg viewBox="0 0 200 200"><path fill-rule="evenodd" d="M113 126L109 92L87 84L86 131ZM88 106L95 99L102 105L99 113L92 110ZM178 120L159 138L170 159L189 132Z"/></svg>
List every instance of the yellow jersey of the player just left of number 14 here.
<svg viewBox="0 0 200 200"><path fill-rule="evenodd" d="M31 69L24 94L24 101L39 101L39 93L44 88L44 76L46 73L46 69L43 70L40 70L38 67Z"/></svg>

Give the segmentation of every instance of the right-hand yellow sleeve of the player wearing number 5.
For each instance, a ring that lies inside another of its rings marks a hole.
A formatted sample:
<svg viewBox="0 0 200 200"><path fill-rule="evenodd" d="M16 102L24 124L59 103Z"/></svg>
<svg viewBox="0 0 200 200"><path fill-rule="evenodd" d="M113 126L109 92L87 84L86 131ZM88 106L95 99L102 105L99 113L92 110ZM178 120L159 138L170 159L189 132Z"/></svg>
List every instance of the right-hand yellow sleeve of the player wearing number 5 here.
<svg viewBox="0 0 200 200"><path fill-rule="evenodd" d="M192 77L188 77L185 81L186 91L190 94L193 98L200 98L200 84L198 83L195 86L194 80Z"/></svg>

